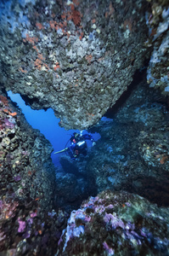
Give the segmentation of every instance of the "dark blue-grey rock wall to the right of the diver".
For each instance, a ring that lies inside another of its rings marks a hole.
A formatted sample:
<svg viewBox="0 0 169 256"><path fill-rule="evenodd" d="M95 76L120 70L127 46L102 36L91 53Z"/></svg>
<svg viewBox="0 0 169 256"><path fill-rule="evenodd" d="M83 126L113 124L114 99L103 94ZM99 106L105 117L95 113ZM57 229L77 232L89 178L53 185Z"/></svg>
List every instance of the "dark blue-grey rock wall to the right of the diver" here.
<svg viewBox="0 0 169 256"><path fill-rule="evenodd" d="M137 77L139 81L142 74ZM80 156L74 161L74 167L71 170L65 168L64 172L71 172L74 181L82 176L86 182L83 191L88 189L91 195L104 189L122 189L142 195L159 206L168 206L169 116L166 97L149 89L145 79L138 85L132 84L129 90L130 93L121 99L123 104L107 113L113 119L102 120L93 126L91 131L99 132L101 136L96 146L89 148L86 157ZM59 181L61 187L63 180ZM65 191L64 185L60 194ZM69 191L68 181L66 191ZM69 193L65 193L64 201L70 204Z"/></svg>

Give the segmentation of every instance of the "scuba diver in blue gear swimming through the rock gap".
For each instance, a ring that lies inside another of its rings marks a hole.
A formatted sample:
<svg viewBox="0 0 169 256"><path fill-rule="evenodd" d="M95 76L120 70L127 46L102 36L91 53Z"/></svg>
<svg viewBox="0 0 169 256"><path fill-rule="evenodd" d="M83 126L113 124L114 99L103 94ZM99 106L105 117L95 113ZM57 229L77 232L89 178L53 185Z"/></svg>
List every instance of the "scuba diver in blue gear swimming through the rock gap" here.
<svg viewBox="0 0 169 256"><path fill-rule="evenodd" d="M58 154L61 152L65 152L70 155L71 159L76 159L79 154L87 155L87 142L86 140L90 140L93 143L93 146L96 144L93 140L93 137L90 134L79 134L74 132L71 135L69 141L65 145L65 149L55 152L54 154ZM67 144L70 142L70 146L66 148Z"/></svg>

